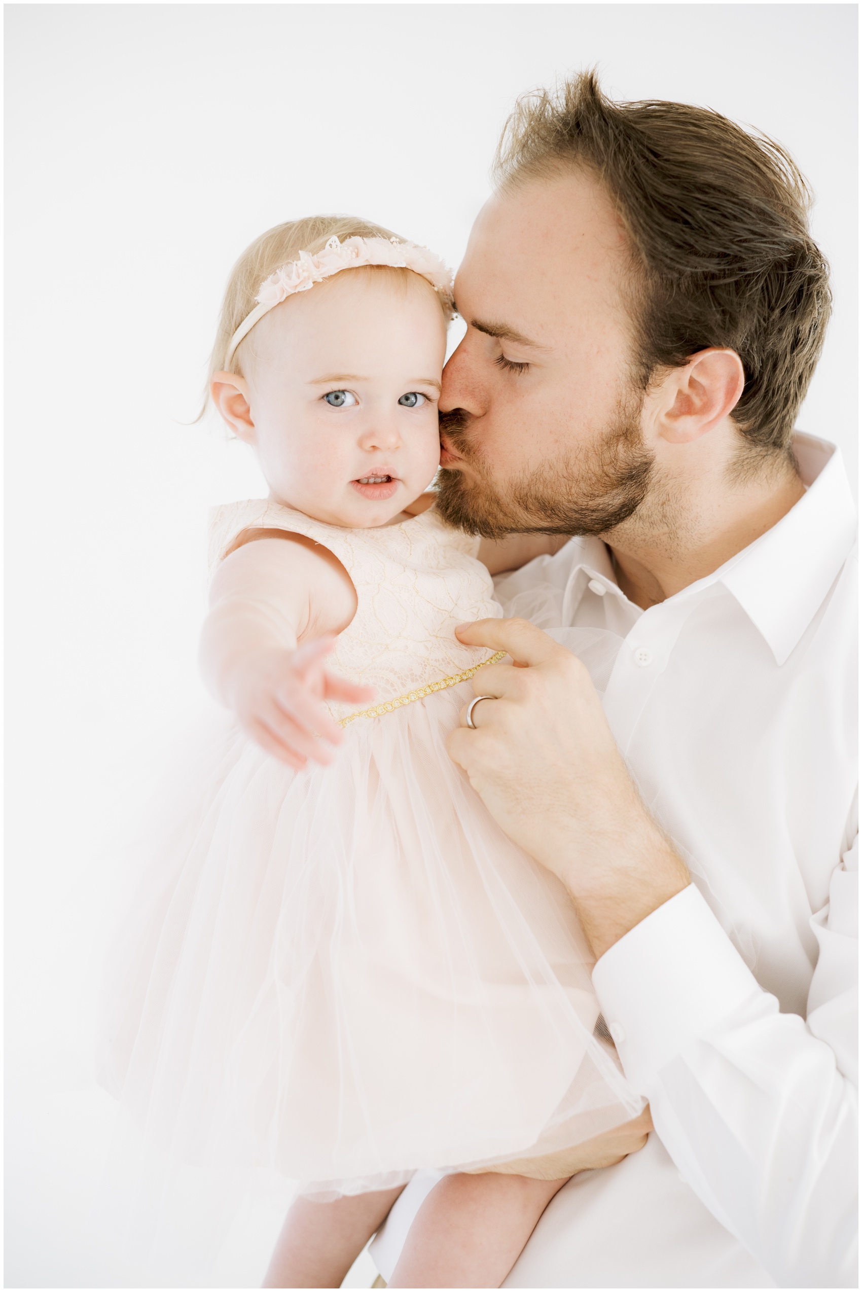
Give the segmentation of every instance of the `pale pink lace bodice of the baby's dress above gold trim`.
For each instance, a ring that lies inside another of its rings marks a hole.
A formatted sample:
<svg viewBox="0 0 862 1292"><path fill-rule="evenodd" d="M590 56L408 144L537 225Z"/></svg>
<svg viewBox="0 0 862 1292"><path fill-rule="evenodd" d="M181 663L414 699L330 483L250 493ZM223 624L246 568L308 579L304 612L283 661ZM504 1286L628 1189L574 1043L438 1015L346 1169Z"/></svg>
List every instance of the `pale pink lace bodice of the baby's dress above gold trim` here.
<svg viewBox="0 0 862 1292"><path fill-rule="evenodd" d="M304 534L339 558L353 579L358 605L336 640L331 665L373 686L375 704L490 659L491 651L463 646L455 637L457 624L501 614L491 576L476 559L479 540L451 530L434 508L401 525L344 530L268 499L229 503L212 518L213 568L244 530ZM354 708L330 707L339 718Z"/></svg>

